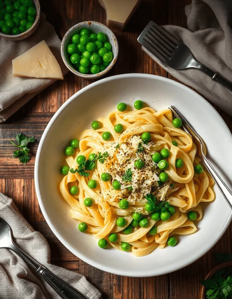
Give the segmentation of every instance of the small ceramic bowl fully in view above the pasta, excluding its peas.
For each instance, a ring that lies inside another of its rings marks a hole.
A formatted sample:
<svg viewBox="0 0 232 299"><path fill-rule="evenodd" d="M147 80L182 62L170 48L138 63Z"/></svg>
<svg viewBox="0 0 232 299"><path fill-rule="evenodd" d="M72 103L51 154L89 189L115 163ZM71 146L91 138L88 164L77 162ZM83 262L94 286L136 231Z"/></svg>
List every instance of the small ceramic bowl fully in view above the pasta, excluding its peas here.
<svg viewBox="0 0 232 299"><path fill-rule="evenodd" d="M92 30L94 33L98 33L98 32L103 32L107 35L109 42L112 46L111 51L113 52L113 60L110 62L110 64L105 68L105 70L97 73L97 74L82 74L79 71L77 71L76 69L73 68L73 65L71 64L71 62L69 61L68 58L68 53L67 53L67 46L69 44L72 44L71 38L73 36L73 34L75 33L79 33L83 28L88 28L90 30ZM119 51L119 45L118 45L118 41L116 39L116 36L114 35L114 33L105 25L98 23L98 22L81 22L78 23L76 25L74 25L73 27L71 27L64 35L64 38L62 39L62 43L61 43L61 55L62 55L62 59L65 63L65 65L67 66L67 68L76 76L85 78L85 79L96 79L96 78L100 78L102 76L104 76L106 73L108 73L108 71L113 67L113 65L115 64L117 58L118 58L118 51Z"/></svg>

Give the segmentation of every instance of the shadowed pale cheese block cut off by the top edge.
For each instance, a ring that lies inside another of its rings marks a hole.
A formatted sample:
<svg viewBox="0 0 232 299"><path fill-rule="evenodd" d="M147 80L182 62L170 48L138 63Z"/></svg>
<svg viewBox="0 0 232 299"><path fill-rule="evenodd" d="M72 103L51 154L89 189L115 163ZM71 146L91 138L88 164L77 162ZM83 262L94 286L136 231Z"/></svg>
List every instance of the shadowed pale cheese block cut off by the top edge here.
<svg viewBox="0 0 232 299"><path fill-rule="evenodd" d="M107 26L122 30L134 11L139 5L140 0L98 0L105 8Z"/></svg>

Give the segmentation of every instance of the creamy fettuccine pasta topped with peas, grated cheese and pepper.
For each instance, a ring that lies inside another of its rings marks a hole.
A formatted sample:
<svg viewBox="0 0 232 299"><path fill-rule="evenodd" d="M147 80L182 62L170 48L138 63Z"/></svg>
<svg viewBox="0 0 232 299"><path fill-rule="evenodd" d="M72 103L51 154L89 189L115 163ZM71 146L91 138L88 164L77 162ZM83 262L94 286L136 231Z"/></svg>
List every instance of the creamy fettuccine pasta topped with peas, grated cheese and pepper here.
<svg viewBox="0 0 232 299"><path fill-rule="evenodd" d="M70 170L60 183L79 230L137 257L193 234L202 202L214 199L213 180L181 120L146 107L111 112L92 127L66 149Z"/></svg>

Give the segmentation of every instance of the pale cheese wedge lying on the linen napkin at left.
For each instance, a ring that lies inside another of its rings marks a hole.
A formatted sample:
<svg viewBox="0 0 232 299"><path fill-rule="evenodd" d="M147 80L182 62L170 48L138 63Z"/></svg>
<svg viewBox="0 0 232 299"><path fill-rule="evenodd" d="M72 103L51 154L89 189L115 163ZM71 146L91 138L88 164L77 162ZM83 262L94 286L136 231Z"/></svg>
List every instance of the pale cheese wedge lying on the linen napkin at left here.
<svg viewBox="0 0 232 299"><path fill-rule="evenodd" d="M43 40L12 60L13 76L63 80L56 57Z"/></svg>

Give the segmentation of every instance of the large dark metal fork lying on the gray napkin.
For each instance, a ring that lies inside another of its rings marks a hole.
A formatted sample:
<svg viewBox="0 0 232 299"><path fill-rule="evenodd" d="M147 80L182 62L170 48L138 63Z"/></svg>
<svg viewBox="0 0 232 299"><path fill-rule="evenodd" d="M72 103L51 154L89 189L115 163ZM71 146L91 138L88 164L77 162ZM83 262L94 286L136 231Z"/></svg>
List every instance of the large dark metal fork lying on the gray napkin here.
<svg viewBox="0 0 232 299"><path fill-rule="evenodd" d="M232 90L232 83L196 61L190 49L165 29L150 21L138 37L148 51L159 58L164 64L175 70L197 68L211 77L212 80Z"/></svg>

